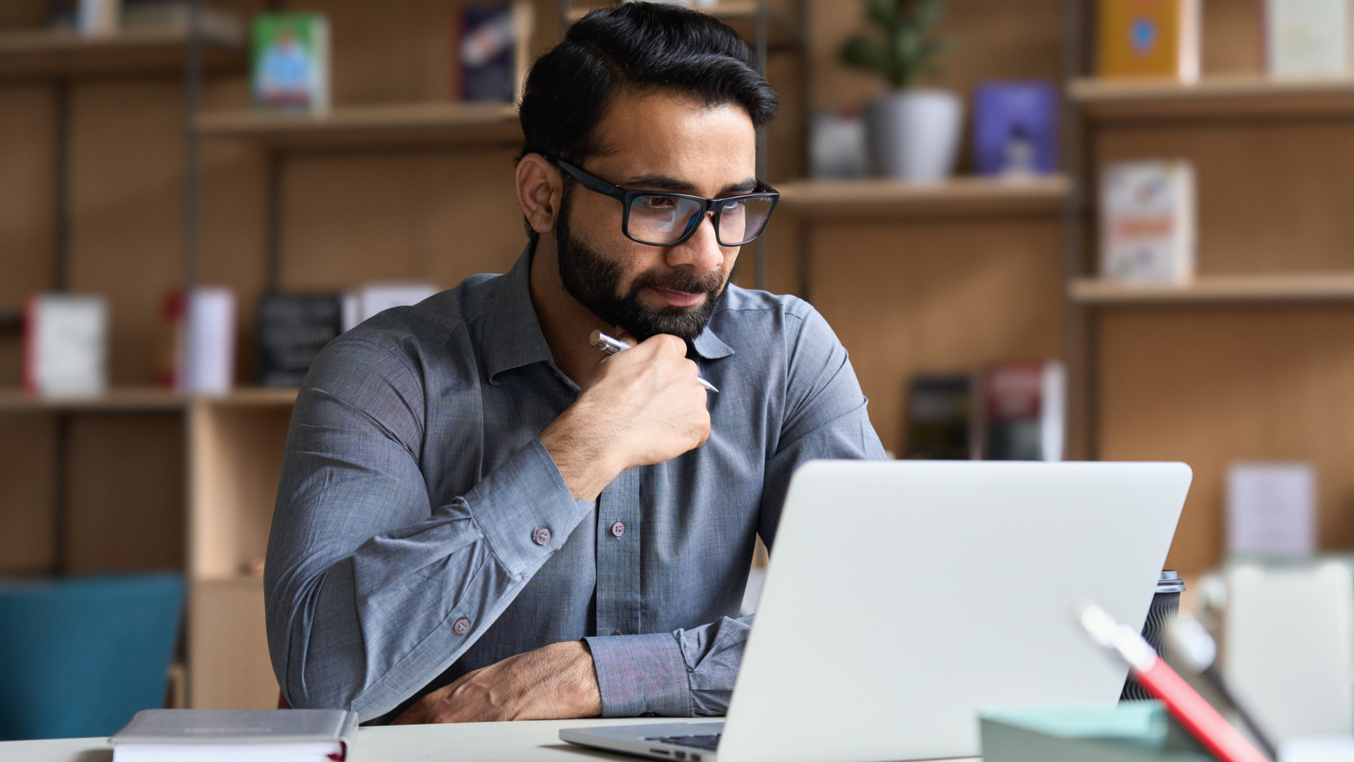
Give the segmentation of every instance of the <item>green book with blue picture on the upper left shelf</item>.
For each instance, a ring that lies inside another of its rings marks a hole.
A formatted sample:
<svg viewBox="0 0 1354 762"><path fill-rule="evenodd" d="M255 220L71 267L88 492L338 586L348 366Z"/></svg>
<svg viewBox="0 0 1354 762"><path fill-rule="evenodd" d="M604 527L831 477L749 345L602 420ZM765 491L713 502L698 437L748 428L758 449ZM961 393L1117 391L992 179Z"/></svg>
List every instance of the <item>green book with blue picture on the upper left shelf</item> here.
<svg viewBox="0 0 1354 762"><path fill-rule="evenodd" d="M306 114L329 110L329 20L324 14L259 14L250 39L255 104Z"/></svg>

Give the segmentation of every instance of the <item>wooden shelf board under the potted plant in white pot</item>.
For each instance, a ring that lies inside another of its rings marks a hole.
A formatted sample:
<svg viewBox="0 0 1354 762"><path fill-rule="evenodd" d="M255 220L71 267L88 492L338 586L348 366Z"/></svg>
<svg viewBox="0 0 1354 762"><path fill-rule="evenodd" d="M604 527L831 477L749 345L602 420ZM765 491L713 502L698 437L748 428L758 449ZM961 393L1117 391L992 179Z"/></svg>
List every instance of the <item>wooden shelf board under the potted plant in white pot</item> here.
<svg viewBox="0 0 1354 762"><path fill-rule="evenodd" d="M881 218L914 214L1049 213L1062 209L1071 183L1063 175L1005 180L953 178L898 180L798 180L776 187L780 206L808 218Z"/></svg>

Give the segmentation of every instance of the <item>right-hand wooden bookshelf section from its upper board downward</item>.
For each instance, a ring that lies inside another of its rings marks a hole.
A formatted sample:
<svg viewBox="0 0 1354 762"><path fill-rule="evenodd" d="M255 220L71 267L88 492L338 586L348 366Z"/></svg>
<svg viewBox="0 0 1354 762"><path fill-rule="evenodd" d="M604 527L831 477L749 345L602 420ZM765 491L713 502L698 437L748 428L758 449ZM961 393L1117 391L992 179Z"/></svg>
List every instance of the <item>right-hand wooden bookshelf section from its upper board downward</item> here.
<svg viewBox="0 0 1354 762"><path fill-rule="evenodd" d="M1206 23L1206 22L1205 22ZM1216 61L1217 58L1215 58ZM1225 475L1242 460L1319 473L1317 541L1354 546L1354 79L1208 72L1194 84L1072 79L1094 193L1112 161L1178 157L1198 182L1198 263L1185 285L1083 275L1066 285L1085 328L1086 456L1178 460L1194 481L1167 568L1225 559ZM1094 203L1085 230L1098 226ZM1090 264L1094 245L1074 252Z"/></svg>

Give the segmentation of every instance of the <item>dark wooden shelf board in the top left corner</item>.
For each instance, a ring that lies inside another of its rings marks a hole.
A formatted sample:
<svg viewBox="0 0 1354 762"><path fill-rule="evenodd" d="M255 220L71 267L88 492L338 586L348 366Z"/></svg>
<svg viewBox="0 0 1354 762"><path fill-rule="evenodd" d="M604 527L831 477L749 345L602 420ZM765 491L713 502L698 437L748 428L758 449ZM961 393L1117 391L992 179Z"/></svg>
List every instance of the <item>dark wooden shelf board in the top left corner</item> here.
<svg viewBox="0 0 1354 762"><path fill-rule="evenodd" d="M110 37L69 31L0 33L0 80L180 72L188 49L185 31L131 28ZM245 68L244 47L204 41L207 71Z"/></svg>

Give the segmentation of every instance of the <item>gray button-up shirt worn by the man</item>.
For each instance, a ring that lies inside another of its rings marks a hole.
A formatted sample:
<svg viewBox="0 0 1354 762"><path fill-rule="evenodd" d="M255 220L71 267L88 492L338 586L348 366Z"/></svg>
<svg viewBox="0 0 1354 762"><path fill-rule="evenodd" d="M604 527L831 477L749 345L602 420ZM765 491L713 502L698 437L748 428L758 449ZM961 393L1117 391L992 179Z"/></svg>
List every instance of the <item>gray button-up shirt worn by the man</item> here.
<svg viewBox="0 0 1354 762"><path fill-rule="evenodd" d="M688 355L720 389L709 441L574 500L538 438L578 386L536 321L532 251L372 317L311 367L264 576L292 706L371 720L586 639L605 716L723 715L754 537L773 545L791 473L884 457L827 323L730 285Z"/></svg>

